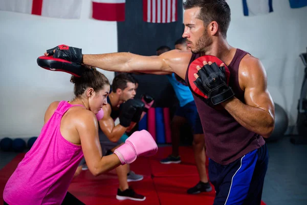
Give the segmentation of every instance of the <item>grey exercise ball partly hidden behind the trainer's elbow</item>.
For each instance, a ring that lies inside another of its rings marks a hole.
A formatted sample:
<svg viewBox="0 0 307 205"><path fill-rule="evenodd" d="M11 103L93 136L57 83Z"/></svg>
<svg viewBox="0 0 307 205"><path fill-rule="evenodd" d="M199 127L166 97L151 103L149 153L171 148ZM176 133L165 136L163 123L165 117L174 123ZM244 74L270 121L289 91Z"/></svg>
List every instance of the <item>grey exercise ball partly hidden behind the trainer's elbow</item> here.
<svg viewBox="0 0 307 205"><path fill-rule="evenodd" d="M281 106L275 103L275 127L274 131L266 141L277 141L283 137L283 134L288 129L288 115Z"/></svg>

